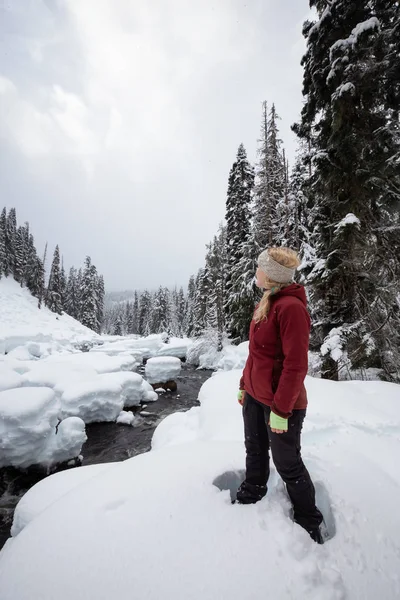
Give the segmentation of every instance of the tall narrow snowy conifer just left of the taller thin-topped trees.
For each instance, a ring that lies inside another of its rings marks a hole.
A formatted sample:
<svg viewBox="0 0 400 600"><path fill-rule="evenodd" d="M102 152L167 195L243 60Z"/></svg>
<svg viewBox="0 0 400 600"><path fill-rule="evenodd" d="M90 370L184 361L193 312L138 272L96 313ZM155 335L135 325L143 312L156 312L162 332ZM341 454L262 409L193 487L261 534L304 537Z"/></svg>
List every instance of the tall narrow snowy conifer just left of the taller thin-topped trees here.
<svg viewBox="0 0 400 600"><path fill-rule="evenodd" d="M254 187L254 169L250 165L243 144L239 146L236 161L229 174L226 200L225 282L226 326L232 338L248 339L254 310L254 292L249 280L248 262L252 247L251 212ZM254 267L252 269L254 276Z"/></svg>

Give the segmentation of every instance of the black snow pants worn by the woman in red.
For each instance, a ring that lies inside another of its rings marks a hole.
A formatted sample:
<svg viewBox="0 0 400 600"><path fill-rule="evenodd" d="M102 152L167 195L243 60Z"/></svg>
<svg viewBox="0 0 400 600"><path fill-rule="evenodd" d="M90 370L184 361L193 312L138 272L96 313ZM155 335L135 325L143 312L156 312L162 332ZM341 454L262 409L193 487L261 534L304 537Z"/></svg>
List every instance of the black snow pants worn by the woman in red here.
<svg viewBox="0 0 400 600"><path fill-rule="evenodd" d="M273 433L269 426L271 409L246 394L243 419L246 446L246 482L266 486L269 477L269 448L276 470L286 484L296 523L307 531L318 528L322 514L315 505L315 488L302 461L300 435L306 410L294 410L288 431Z"/></svg>

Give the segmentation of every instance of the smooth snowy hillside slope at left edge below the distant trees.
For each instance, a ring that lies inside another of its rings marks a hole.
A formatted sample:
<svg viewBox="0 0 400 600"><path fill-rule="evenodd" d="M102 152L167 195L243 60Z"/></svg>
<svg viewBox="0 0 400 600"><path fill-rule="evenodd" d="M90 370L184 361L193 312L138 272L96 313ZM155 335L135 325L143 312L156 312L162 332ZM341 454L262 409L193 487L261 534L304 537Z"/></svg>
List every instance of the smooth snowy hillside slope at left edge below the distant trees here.
<svg viewBox="0 0 400 600"><path fill-rule="evenodd" d="M67 314L56 315L13 278L0 280L0 347L10 352L27 342L58 345L92 343L99 336Z"/></svg>

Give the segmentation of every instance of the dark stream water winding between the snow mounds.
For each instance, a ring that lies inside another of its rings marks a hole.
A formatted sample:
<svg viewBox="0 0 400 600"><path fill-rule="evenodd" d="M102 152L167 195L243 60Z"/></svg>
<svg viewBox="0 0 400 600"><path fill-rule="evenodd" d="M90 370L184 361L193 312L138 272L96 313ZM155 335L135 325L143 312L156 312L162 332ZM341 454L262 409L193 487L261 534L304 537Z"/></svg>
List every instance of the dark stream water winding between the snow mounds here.
<svg viewBox="0 0 400 600"><path fill-rule="evenodd" d="M211 371L196 371L193 367L183 365L181 376L177 380L177 391L159 394L156 402L148 403L146 408L135 409L136 415L139 415L139 423L135 427L116 423L87 425L88 439L82 448L82 464L116 462L148 452L158 423L171 413L197 406L199 390L210 375ZM143 410L145 415L140 414ZM58 470L66 468L76 467L65 465ZM41 469L0 469L0 549L10 535L14 509L18 501L35 483L47 475Z"/></svg>

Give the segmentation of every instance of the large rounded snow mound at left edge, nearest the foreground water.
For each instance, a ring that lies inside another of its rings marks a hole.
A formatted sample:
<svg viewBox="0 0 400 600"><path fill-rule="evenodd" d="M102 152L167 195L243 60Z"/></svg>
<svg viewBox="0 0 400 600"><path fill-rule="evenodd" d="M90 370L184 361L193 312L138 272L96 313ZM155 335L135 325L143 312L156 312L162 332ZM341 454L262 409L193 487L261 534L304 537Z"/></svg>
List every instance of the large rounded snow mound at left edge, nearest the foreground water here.
<svg viewBox="0 0 400 600"><path fill-rule="evenodd" d="M49 388L16 388L0 392L0 467L50 467L75 458L86 441L81 419L58 426L59 402Z"/></svg>

